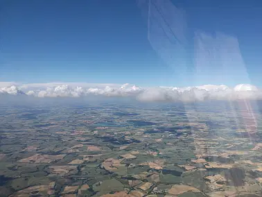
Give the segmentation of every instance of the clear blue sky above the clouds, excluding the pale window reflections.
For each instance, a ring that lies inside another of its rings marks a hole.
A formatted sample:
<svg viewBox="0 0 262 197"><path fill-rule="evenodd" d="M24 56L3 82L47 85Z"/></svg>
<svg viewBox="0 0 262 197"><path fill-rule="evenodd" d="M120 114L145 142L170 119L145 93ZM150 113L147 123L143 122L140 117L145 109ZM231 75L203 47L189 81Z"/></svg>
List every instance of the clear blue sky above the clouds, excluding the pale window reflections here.
<svg viewBox="0 0 262 197"><path fill-rule="evenodd" d="M0 81L262 87L261 0L172 2L184 10L187 44L184 58L175 55L168 65L148 41L147 10L137 1L1 0ZM245 65L233 58L227 71L213 64L199 72L196 31L237 38Z"/></svg>

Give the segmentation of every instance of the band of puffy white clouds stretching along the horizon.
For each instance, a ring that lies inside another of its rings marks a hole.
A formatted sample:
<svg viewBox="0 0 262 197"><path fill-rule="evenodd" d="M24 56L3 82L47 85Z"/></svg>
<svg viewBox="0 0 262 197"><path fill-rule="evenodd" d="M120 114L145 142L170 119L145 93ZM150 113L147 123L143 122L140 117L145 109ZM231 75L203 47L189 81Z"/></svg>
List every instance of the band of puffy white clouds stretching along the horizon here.
<svg viewBox="0 0 262 197"><path fill-rule="evenodd" d="M33 88L34 87L34 88ZM37 87L38 89L36 89ZM91 95L100 96L130 96L138 101L150 102L195 102L207 100L238 100L262 99L262 90L254 85L240 84L236 87L226 85L202 85L195 87L150 87L143 88L128 83L124 85L88 85L80 86L60 83L59 85L11 85L0 87L0 97L3 95L25 95L34 97L82 97Z"/></svg>

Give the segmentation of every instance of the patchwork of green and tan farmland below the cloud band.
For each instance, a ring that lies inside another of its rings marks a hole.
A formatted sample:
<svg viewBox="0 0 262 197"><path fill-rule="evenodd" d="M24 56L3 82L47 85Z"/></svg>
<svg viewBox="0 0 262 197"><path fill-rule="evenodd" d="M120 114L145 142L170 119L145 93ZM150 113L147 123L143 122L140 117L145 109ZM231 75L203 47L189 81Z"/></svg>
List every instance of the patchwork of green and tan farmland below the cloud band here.
<svg viewBox="0 0 262 197"><path fill-rule="evenodd" d="M0 196L262 195L259 112L256 129L237 110L203 105L70 103L0 115Z"/></svg>

